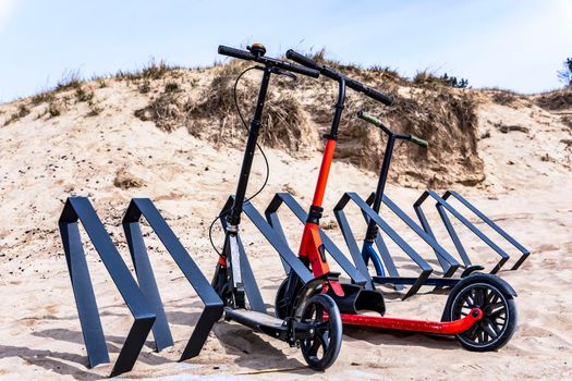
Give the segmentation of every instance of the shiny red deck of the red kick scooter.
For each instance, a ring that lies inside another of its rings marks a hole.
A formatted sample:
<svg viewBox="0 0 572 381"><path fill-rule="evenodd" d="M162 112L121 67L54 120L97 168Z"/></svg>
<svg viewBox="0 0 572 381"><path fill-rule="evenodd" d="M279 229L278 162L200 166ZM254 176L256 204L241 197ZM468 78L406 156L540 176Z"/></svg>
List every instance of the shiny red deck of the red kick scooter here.
<svg viewBox="0 0 572 381"><path fill-rule="evenodd" d="M341 317L342 322L346 325L372 327L388 330L435 334L458 334L468 330L474 323L483 319L483 311L478 308L473 308L473 310L467 316L453 321L414 320L351 314L342 314Z"/></svg>

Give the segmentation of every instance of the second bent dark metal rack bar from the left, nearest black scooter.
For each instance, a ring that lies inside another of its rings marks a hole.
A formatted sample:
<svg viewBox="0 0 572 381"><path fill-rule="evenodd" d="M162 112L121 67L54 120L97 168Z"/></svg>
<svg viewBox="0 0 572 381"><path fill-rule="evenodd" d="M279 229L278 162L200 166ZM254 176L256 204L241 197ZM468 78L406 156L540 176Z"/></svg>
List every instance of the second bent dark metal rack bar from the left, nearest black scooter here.
<svg viewBox="0 0 572 381"><path fill-rule="evenodd" d="M208 334L212 329L212 325L222 315L223 303L210 283L207 281L200 269L196 266L188 251L186 251L174 232L167 224L159 210L157 210L153 201L148 198L132 199L127 211L123 217L123 228L125 229L129 247L130 249L137 250L132 251L132 257L134 259L146 257L144 261L139 261L137 265L135 265L137 274L138 271L142 270L142 265L149 262L147 250L145 249L145 243L143 241L143 234L139 228L139 220L142 217L147 220L150 228L159 237L159 241L161 241L169 255L173 258L183 275L186 278L188 283L191 283L191 286L195 290L200 300L203 300L205 304L205 308L198 319L199 323L197 323L193 330L193 333L181 356L180 360L182 361L197 356L200 353L200 349L203 348ZM145 269L145 271L150 271L153 274L153 270L150 270L150 263L148 266L149 269ZM145 278L145 280L148 280L148 278ZM159 295L159 291L157 290L157 284L155 282L149 283L146 286L148 288L155 287L153 293ZM160 303L160 298L158 302ZM167 319L165 319L165 323L167 323ZM162 329L165 329L165 327ZM168 327L167 330L169 330Z"/></svg>

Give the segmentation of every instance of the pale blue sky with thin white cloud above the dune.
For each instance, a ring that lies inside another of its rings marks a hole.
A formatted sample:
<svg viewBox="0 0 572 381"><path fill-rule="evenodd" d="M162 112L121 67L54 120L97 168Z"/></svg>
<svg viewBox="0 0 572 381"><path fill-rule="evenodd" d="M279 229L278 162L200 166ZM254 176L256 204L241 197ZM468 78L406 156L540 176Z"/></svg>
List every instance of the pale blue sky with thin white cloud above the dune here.
<svg viewBox="0 0 572 381"><path fill-rule="evenodd" d="M572 56L572 1L0 0L0 101L83 76L220 59L217 46L260 41L269 54L329 57L466 77L523 93L560 87Z"/></svg>

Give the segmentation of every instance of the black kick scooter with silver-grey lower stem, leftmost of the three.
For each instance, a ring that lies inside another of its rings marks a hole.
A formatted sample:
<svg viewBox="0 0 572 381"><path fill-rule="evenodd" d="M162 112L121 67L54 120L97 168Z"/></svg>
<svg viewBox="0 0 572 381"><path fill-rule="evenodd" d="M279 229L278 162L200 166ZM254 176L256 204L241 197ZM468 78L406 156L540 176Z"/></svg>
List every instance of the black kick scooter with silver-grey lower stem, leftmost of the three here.
<svg viewBox="0 0 572 381"><path fill-rule="evenodd" d="M284 341L290 346L299 346L311 368L324 370L330 367L338 357L342 340L342 324L340 310L333 299L328 295L316 293L316 288L328 283L330 279L337 279L337 275L324 274L304 284L292 314L282 319L255 311L250 309L246 303L239 238L241 214L270 76L271 74L281 74L292 77L293 72L318 77L319 72L265 57L266 48L260 44L254 44L247 49L248 51L245 51L224 46L219 46L218 49L220 54L259 63L260 66L256 66L256 69L263 72L263 79L254 116L248 128L248 139L236 194L233 197L232 207L226 216L224 246L217 265L212 286L224 302L226 320L235 321L257 332ZM296 271L297 267L293 266L292 269Z"/></svg>

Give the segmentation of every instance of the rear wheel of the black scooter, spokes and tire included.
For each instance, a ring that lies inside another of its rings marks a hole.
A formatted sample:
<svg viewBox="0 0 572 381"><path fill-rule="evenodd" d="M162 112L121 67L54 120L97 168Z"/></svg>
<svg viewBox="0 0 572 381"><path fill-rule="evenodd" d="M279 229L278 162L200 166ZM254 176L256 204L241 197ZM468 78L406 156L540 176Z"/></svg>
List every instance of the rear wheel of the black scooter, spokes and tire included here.
<svg viewBox="0 0 572 381"><path fill-rule="evenodd" d="M312 339L300 344L304 359L313 369L329 368L338 358L342 345L342 319L338 306L328 295L314 295L302 312L302 321L314 325Z"/></svg>

